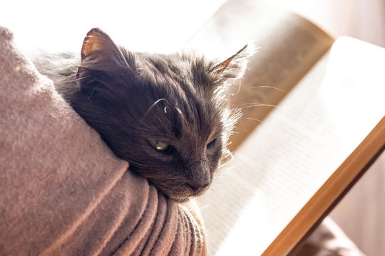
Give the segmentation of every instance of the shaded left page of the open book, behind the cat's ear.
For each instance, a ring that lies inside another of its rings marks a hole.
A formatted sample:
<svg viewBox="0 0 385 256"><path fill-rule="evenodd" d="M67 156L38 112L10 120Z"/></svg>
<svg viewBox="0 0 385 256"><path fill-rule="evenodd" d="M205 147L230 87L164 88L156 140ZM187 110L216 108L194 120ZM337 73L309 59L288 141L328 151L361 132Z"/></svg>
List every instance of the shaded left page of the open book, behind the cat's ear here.
<svg viewBox="0 0 385 256"><path fill-rule="evenodd" d="M333 39L306 19L257 0L227 1L185 48L230 57L250 43L257 48L234 99L243 116L231 138L234 150L279 100L332 46Z"/></svg>

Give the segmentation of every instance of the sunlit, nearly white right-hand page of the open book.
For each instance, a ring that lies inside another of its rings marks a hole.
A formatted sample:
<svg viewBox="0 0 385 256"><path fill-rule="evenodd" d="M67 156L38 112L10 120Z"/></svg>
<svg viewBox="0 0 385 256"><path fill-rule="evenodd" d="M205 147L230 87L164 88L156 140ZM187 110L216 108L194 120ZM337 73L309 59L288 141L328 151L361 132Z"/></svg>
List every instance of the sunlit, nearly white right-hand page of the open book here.
<svg viewBox="0 0 385 256"><path fill-rule="evenodd" d="M384 49L335 43L201 198L210 255L262 255L384 117L384 70Z"/></svg>

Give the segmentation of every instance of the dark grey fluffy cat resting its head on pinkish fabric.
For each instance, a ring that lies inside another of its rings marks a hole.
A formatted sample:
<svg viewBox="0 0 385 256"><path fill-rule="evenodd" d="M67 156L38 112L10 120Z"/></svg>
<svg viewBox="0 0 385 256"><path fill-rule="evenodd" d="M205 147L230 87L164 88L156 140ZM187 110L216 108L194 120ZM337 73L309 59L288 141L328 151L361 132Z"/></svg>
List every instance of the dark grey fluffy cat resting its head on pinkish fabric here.
<svg viewBox="0 0 385 256"><path fill-rule="evenodd" d="M80 59L41 55L39 72L131 171L187 201L207 190L240 117L228 79L245 70L247 46L225 61L187 53L130 52L93 28Z"/></svg>

